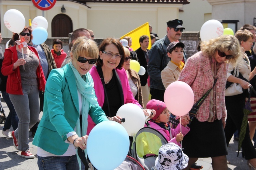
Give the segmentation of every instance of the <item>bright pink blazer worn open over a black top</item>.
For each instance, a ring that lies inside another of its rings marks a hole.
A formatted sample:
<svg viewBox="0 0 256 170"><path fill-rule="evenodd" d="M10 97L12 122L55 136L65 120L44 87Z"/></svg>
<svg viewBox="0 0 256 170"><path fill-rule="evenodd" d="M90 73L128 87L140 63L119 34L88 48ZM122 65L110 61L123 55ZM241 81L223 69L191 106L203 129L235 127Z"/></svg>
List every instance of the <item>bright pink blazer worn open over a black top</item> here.
<svg viewBox="0 0 256 170"><path fill-rule="evenodd" d="M102 82L100 80L100 76L99 73L96 69L95 66L93 66L93 68L91 68L91 70L89 71L91 74L91 77L93 77L93 81L94 81L94 89L95 89L95 94L98 98L98 103L99 105L102 107L103 103L104 103L104 88L102 85ZM138 103L137 100L134 99L130 86L129 86L129 81L127 78L127 74L124 68L122 68L121 70L116 69L116 72L120 78L122 87L123 87L123 94L124 94L124 102L126 103L133 103L136 104L138 106L141 107L141 105ZM141 107L142 108L142 107ZM88 129L87 129L87 135L90 133L91 129L93 129L93 127L96 124L93 122L93 120L91 119L90 116L88 116Z"/></svg>

